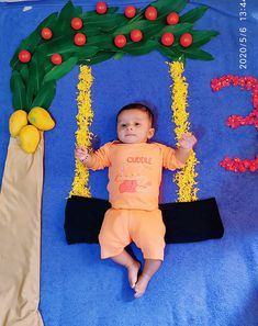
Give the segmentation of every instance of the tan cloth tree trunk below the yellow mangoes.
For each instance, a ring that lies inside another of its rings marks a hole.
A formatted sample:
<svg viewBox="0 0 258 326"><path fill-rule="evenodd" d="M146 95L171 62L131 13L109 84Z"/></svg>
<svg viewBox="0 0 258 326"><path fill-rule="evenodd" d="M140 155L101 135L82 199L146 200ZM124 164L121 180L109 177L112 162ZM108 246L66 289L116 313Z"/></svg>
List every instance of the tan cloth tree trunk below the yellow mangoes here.
<svg viewBox="0 0 258 326"><path fill-rule="evenodd" d="M42 326L41 205L44 139L35 154L10 138L0 193L0 325Z"/></svg>

